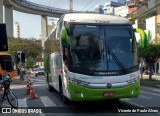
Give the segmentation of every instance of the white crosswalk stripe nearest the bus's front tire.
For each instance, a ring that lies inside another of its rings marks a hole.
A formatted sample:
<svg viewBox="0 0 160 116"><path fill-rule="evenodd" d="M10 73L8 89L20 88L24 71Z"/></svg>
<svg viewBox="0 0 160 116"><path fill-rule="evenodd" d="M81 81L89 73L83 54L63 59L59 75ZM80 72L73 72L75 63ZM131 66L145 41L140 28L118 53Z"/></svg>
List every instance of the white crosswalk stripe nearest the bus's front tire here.
<svg viewBox="0 0 160 116"><path fill-rule="evenodd" d="M56 104L48 96L41 96L40 99L45 107L56 106Z"/></svg>

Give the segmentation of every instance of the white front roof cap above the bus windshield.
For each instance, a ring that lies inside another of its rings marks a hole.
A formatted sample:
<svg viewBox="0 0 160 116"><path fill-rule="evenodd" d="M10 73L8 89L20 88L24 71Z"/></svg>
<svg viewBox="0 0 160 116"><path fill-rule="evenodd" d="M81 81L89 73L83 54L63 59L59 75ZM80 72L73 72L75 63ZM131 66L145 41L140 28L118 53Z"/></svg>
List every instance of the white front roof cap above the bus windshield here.
<svg viewBox="0 0 160 116"><path fill-rule="evenodd" d="M94 13L71 13L64 15L64 21L82 23L131 24L127 18Z"/></svg>

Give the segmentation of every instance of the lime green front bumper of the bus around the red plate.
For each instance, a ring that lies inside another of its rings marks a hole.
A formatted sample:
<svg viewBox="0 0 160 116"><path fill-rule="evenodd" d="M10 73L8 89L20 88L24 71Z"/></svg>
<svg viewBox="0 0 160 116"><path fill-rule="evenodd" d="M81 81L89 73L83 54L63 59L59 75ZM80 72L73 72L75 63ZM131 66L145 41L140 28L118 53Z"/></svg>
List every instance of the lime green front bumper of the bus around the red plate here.
<svg viewBox="0 0 160 116"><path fill-rule="evenodd" d="M130 86L109 89L87 88L70 82L69 88L71 101L99 101L107 99L131 98L137 97L140 94L140 81L137 81ZM108 96L106 93L114 94L109 94Z"/></svg>

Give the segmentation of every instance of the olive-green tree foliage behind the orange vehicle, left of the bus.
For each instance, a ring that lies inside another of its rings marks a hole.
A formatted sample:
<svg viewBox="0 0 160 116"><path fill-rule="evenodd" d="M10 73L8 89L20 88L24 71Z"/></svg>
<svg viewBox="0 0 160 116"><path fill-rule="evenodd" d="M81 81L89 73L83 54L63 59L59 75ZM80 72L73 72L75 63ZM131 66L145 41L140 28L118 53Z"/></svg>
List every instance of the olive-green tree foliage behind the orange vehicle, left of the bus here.
<svg viewBox="0 0 160 116"><path fill-rule="evenodd" d="M25 53L26 67L32 68L37 61L42 61L42 45L41 40L8 38L8 53L15 55L17 51Z"/></svg>

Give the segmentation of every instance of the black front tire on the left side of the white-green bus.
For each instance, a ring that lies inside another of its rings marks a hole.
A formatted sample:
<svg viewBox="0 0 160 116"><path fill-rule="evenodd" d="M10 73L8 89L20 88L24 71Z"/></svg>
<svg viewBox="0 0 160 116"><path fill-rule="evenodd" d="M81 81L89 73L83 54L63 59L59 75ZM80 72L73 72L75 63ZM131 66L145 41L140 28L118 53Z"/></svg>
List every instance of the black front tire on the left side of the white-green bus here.
<svg viewBox="0 0 160 116"><path fill-rule="evenodd" d="M64 94L63 94L63 87L62 87L61 78L59 78L59 92L60 92L61 99L64 102L64 104L68 105L69 104L69 99L67 97L65 97Z"/></svg>

